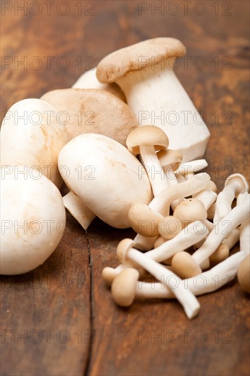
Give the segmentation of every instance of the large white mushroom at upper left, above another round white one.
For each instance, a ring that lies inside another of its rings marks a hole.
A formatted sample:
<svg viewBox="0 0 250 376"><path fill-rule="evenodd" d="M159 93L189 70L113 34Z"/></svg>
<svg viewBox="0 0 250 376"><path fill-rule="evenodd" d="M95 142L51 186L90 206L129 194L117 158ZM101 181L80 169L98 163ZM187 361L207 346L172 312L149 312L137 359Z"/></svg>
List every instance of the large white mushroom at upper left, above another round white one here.
<svg viewBox="0 0 250 376"><path fill-rule="evenodd" d="M58 155L68 141L65 126L58 122L58 110L40 99L15 103L1 126L1 166L16 174L47 176L57 187L62 185Z"/></svg>

